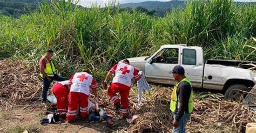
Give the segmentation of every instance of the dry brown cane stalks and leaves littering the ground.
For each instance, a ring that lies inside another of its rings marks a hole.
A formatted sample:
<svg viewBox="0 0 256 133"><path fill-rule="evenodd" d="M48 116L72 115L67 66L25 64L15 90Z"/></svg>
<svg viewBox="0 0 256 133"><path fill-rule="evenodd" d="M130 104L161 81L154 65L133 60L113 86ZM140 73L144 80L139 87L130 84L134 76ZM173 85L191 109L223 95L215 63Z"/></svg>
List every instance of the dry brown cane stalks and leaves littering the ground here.
<svg viewBox="0 0 256 133"><path fill-rule="evenodd" d="M5 60L0 62L0 68L2 109L8 110L16 104L28 104L29 101L39 99L42 82L38 78L36 67L31 67L28 62ZM111 128L113 131L171 132L172 113L169 105L172 90L163 86L151 86L151 89L150 94L143 94L143 105L140 107L137 104L137 87L131 89L130 113L138 114L139 118L134 124ZM98 93L106 112L114 120L118 120L119 115L113 112L106 90L99 89ZM248 108L237 102L223 100L221 94L200 93L194 95L194 112L187 130L238 132L244 131L244 125L248 122L256 122L256 114Z"/></svg>

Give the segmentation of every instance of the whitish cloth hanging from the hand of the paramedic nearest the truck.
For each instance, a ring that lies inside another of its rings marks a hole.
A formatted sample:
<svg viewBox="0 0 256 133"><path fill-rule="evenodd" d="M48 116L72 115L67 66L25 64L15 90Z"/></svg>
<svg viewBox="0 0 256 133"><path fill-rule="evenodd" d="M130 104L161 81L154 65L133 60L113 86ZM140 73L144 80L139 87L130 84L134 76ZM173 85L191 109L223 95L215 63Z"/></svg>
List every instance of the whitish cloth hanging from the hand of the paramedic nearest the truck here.
<svg viewBox="0 0 256 133"><path fill-rule="evenodd" d="M150 91L149 83L147 83L147 80L145 78L144 72L139 71L139 75L141 75L141 78L137 81L138 86L138 104L142 104L142 91L147 91L147 93Z"/></svg>

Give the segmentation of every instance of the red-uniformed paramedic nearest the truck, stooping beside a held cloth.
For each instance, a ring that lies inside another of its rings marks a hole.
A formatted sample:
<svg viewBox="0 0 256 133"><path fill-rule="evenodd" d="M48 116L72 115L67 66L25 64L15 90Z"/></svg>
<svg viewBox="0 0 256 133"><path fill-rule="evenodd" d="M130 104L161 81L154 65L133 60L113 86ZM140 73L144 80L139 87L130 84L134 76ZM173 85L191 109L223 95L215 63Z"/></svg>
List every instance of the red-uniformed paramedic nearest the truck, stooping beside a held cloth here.
<svg viewBox="0 0 256 133"><path fill-rule="evenodd" d="M120 114L123 118L125 118L128 115L128 97L132 85L132 78L139 80L140 75L138 74L138 70L130 65L129 60L124 60L123 63L114 65L107 73L104 80L105 89L107 86L107 81L110 79L112 74L114 74L114 78L109 90L107 91L107 95L109 95L109 98L112 100L115 109L118 110L120 108ZM119 92L121 99L119 99L118 95L116 94L117 92Z"/></svg>

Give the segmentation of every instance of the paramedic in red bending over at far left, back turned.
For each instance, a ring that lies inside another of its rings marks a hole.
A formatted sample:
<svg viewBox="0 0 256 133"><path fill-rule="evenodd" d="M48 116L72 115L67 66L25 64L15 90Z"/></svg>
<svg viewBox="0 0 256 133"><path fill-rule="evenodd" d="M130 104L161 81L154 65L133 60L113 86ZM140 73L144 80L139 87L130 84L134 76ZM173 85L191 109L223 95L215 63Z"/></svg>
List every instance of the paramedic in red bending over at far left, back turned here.
<svg viewBox="0 0 256 133"><path fill-rule="evenodd" d="M57 99L57 112L62 118L66 117L66 110L68 109L69 83L69 80L65 80L63 82L57 82L52 86L52 93Z"/></svg>

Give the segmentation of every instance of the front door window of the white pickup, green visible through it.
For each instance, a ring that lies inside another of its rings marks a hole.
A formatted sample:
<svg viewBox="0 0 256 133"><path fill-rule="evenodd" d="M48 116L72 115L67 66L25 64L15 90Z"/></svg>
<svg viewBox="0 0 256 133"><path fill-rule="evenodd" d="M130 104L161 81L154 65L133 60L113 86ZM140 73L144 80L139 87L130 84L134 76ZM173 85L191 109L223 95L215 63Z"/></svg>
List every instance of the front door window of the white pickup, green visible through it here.
<svg viewBox="0 0 256 133"><path fill-rule="evenodd" d="M153 63L166 63L166 64L178 64L179 49L178 48L166 48L153 58Z"/></svg>

